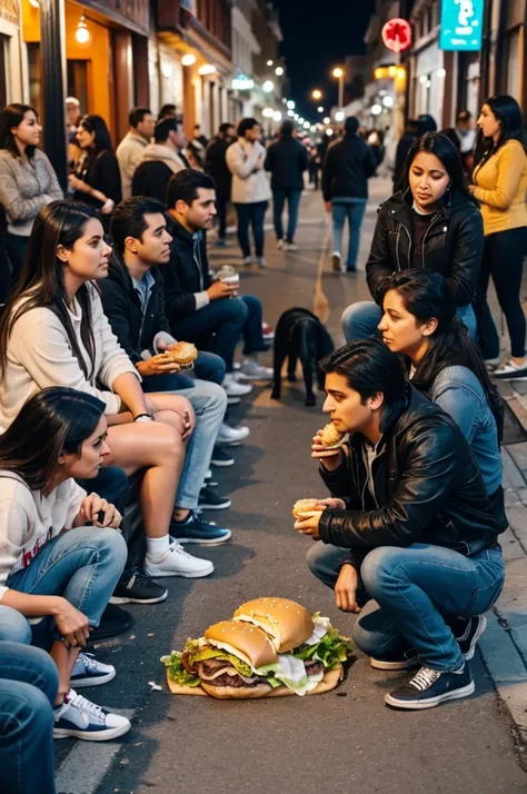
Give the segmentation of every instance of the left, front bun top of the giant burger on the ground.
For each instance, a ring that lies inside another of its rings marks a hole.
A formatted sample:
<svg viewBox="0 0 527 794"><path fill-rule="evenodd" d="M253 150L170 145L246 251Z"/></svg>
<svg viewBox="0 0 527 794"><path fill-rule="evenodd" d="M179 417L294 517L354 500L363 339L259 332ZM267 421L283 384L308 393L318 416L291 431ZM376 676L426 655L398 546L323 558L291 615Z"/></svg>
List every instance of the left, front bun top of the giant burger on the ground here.
<svg viewBox="0 0 527 794"><path fill-rule="evenodd" d="M310 634L307 635L308 637ZM252 668L278 662L275 646L261 628L239 623L238 621L221 621L205 633L205 638L215 648L233 654Z"/></svg>

